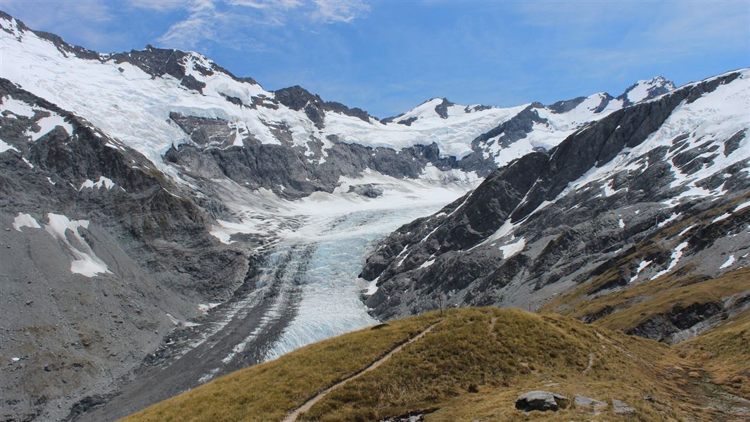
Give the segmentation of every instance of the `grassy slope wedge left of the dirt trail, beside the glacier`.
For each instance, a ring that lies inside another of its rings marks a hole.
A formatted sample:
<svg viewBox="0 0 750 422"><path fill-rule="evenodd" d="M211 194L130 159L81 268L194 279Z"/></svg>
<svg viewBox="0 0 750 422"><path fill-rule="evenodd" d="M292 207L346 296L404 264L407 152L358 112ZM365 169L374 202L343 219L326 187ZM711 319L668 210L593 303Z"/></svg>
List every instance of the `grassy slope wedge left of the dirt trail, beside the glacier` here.
<svg viewBox="0 0 750 422"><path fill-rule="evenodd" d="M281 421L318 391L362 370L435 321L436 313L427 313L314 343L215 379L123 421Z"/></svg>

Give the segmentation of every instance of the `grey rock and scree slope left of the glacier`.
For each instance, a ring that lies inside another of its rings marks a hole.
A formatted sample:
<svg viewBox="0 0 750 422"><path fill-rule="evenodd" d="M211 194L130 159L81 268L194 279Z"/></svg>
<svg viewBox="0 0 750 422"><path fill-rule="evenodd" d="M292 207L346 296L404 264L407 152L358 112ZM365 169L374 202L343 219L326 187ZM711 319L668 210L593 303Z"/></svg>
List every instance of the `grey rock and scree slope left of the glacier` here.
<svg viewBox="0 0 750 422"><path fill-rule="evenodd" d="M231 297L254 258L211 236L189 190L127 145L5 79L0 97L0 336L19 358L0 368L0 419L58 420L196 303Z"/></svg>

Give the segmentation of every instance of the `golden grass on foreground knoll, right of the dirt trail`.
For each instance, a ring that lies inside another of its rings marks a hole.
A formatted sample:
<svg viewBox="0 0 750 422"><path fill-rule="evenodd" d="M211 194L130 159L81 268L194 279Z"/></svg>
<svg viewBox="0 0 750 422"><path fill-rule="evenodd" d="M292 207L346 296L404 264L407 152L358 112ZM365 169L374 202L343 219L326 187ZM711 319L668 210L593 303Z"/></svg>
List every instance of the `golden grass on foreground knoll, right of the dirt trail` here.
<svg viewBox="0 0 750 422"><path fill-rule="evenodd" d="M592 366L586 370L589 356ZM332 391L300 420L380 421L415 411L429 412L426 421L446 422L592 417L590 409L524 415L514 409L514 401L529 390L624 400L638 410L631 421L680 421L688 414L713 418L708 409L696 413L693 406L700 407L700 400L683 394L676 381L688 378L685 371L673 374L675 381L665 379L673 365L667 346L561 316L452 310L419 343ZM644 400L644 394L658 397L658 403ZM611 412L604 414L618 420Z"/></svg>

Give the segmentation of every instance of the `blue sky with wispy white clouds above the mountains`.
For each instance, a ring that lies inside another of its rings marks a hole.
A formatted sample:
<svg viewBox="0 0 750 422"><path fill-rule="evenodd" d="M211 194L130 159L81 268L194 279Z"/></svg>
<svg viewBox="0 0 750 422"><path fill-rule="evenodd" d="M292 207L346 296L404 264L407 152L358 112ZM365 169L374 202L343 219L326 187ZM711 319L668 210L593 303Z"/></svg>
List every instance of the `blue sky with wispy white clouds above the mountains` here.
<svg viewBox="0 0 750 422"><path fill-rule="evenodd" d="M202 52L267 89L396 115L430 97L513 106L750 66L750 1L10 1L100 52Z"/></svg>

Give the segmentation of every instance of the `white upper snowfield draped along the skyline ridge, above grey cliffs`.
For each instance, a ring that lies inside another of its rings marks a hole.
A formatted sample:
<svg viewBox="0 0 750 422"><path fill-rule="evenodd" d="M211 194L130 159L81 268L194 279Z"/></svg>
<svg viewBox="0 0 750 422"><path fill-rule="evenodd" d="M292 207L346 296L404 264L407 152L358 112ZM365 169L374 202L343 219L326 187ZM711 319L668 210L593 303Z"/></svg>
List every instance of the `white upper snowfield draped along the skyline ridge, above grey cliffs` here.
<svg viewBox="0 0 750 422"><path fill-rule="evenodd" d="M365 121L341 112L326 111L321 128L308 118L304 109L290 109L281 103L248 106L273 101L275 93L249 79L236 79L217 70L213 61L195 52L188 53L181 66L186 77L205 84L201 91L186 88L169 74L152 77L128 62L116 63L113 55L80 58L58 49L34 31L21 28L15 19L0 19L0 27L12 34L0 39L3 77L86 118L171 175L174 173L163 163L163 154L172 145L192 142L170 119L172 112L228 122L235 132L231 146L242 147L248 139L263 144L296 146L303 148L308 160L316 163L325 162L327 150L333 145L329 137L335 136L338 142L396 150L435 143L441 157L457 159L472 151L481 151L485 158L492 158L502 166L534 148L552 148L583 124L604 118L624 105L624 100L604 93L589 95L563 112L538 103L500 108L478 104L463 106L433 98L388 124L376 118ZM197 70L199 68L214 71L206 76ZM663 78L639 81L628 98L631 102L643 99L650 89L665 83ZM229 101L229 97L239 99L242 104ZM17 115L33 115L31 107L15 100L3 100L2 108ZM439 109L442 111L438 112ZM527 109L546 122L534 122L530 133L507 145L499 142L502 133L483 142L474 142L478 136ZM399 121L408 124L399 124ZM37 139L55 126L65 127L72 133L62 118L52 115L43 120L38 133L30 135ZM280 135L279 128L288 130L291 139ZM317 145L323 145L320 153L316 152Z"/></svg>

